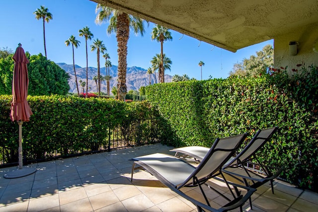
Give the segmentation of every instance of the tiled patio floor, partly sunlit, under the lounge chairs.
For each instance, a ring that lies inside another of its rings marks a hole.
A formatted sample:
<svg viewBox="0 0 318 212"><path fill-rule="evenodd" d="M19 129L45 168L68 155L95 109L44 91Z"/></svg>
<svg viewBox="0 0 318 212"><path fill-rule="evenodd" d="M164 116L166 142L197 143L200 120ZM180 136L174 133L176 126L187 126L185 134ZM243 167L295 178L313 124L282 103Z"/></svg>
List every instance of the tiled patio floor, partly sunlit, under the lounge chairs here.
<svg viewBox="0 0 318 212"><path fill-rule="evenodd" d="M129 159L155 152L173 154L169 152L171 148L154 144L41 162L30 165L37 167L37 172L16 179L3 178L16 167L2 168L0 212L195 212L192 203L177 196L148 172L136 170L133 182L130 181L133 162ZM211 181L211 185L226 194L225 185L217 183ZM182 191L201 198L197 189ZM274 192L271 193L269 185L258 188L252 196L252 211L318 211L317 193L279 180L275 181ZM226 204L213 191L207 190L207 196L213 207ZM243 210L251 211L248 202Z"/></svg>

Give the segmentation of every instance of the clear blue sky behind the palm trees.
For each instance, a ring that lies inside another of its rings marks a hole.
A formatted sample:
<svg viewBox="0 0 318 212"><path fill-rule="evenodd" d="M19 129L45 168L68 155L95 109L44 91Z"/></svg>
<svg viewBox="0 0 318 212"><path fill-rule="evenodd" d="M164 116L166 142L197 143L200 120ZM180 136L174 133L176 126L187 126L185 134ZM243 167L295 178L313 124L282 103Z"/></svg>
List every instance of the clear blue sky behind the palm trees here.
<svg viewBox="0 0 318 212"><path fill-rule="evenodd" d="M79 37L79 29L88 26L93 33L93 39L102 40L110 55L113 65L118 65L116 35L107 35L108 23L95 24L96 3L90 0L1 0L0 1L0 48L15 51L18 43L24 51L31 55L44 55L42 20L37 20L33 12L44 5L53 14L53 19L45 23L47 57L55 63L73 64L72 47L67 47L65 41L71 35L76 36L80 46L75 49L75 63L86 67L85 39ZM143 37L131 33L128 41L128 67L137 66L148 69L152 57L160 53L160 44L151 40L154 24L150 22ZM236 53L200 42L197 39L172 31L172 41L163 43L163 52L171 59L171 71L165 73L187 74L190 78L201 78L198 63L203 61L202 78L226 78L235 63L255 55L267 45L273 45L273 40L255 44L238 50ZM97 67L96 52L90 51L93 42L87 41L88 66ZM101 64L104 59L101 58Z"/></svg>

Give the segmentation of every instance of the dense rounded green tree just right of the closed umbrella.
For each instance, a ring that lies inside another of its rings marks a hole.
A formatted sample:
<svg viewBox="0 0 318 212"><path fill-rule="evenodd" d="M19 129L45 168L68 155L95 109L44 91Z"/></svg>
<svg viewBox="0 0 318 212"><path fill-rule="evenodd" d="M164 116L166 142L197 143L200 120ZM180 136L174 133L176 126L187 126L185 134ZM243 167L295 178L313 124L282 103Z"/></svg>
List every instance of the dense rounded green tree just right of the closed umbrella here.
<svg viewBox="0 0 318 212"><path fill-rule="evenodd" d="M30 63L27 65L30 95L66 95L70 90L70 75L48 60L42 54L26 54Z"/></svg>

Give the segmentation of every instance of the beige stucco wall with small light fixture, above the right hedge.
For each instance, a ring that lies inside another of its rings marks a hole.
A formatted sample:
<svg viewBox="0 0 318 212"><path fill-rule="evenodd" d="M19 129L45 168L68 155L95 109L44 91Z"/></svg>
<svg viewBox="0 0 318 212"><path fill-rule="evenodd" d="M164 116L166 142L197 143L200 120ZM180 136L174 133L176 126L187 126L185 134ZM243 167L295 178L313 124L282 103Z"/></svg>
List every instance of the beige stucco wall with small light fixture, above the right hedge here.
<svg viewBox="0 0 318 212"><path fill-rule="evenodd" d="M286 34L274 38L274 66L286 67L290 69L296 67L297 64L305 63L305 66L312 64L318 66L318 53L313 51L313 45L318 40L318 23L299 30L286 32ZM297 55L289 55L289 42L297 41Z"/></svg>

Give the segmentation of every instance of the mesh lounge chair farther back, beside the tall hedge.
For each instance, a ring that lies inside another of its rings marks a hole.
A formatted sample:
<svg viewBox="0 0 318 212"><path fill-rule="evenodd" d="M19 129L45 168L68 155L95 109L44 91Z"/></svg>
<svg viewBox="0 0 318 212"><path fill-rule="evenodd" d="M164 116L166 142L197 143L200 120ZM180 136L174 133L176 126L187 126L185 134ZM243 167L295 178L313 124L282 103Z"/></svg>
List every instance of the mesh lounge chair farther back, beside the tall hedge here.
<svg viewBox="0 0 318 212"><path fill-rule="evenodd" d="M272 193L274 194L273 180L280 175L282 168L263 165L257 160L256 153L266 141L269 141L270 138L272 138L272 135L276 131L277 127L258 130L244 149L236 157L230 158L223 166L222 171L244 183L245 186L254 189L270 181ZM176 157L185 158L191 156L195 158L196 161L202 161L208 150L209 148L202 146L186 146L171 149L170 151L175 151ZM182 153L182 155L179 155L180 153ZM257 163L252 163L251 159L255 159ZM257 173L255 170L248 167L250 165L260 167L262 172ZM249 199L249 204L252 209L251 199Z"/></svg>

